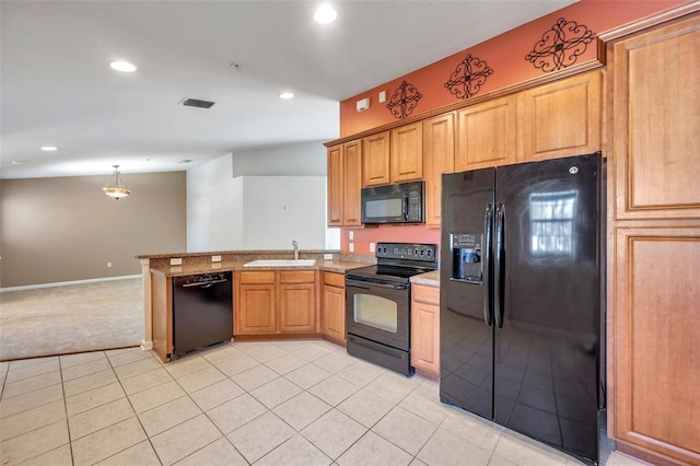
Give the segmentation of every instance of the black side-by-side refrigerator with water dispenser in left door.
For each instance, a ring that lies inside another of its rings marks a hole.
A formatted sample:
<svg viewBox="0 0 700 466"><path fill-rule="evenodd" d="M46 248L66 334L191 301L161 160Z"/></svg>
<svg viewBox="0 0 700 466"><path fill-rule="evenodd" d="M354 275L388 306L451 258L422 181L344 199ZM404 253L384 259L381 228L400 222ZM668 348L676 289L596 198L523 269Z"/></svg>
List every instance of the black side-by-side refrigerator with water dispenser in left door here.
<svg viewBox="0 0 700 466"><path fill-rule="evenodd" d="M442 177L440 397L598 462L600 153Z"/></svg>

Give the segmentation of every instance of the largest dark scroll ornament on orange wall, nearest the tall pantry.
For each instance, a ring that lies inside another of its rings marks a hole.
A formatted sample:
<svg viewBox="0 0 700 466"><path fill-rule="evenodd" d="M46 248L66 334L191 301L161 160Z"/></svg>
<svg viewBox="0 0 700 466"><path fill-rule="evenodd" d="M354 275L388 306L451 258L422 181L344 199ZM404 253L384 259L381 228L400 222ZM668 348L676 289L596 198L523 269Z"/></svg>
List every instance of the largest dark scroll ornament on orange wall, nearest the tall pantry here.
<svg viewBox="0 0 700 466"><path fill-rule="evenodd" d="M595 33L583 24L560 18L525 59L544 72L560 70L575 63L594 38Z"/></svg>

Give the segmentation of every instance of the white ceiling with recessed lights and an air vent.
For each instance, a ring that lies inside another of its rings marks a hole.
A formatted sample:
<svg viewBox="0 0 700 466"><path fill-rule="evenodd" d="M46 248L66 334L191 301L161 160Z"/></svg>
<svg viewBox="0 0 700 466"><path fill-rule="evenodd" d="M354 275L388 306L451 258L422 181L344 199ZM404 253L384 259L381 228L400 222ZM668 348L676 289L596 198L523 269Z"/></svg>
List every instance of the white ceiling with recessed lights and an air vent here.
<svg viewBox="0 0 700 466"><path fill-rule="evenodd" d="M323 25L311 1L2 0L0 177L178 171L331 140L339 101L572 2L334 1Z"/></svg>

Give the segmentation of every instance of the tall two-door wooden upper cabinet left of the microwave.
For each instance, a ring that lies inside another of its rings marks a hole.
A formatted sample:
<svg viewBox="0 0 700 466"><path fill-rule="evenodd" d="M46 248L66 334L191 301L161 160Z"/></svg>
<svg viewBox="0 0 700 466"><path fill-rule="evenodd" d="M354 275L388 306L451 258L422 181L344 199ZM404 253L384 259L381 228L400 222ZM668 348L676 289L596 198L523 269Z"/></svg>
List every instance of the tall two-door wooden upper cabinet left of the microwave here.
<svg viewBox="0 0 700 466"><path fill-rule="evenodd" d="M359 226L362 141L328 148L328 226Z"/></svg>

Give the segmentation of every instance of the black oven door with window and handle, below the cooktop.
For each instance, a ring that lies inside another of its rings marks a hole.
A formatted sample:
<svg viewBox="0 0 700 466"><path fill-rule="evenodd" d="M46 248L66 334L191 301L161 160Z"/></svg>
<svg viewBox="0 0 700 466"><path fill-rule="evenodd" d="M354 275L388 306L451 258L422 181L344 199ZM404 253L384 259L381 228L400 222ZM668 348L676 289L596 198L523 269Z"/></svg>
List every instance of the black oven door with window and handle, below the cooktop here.
<svg viewBox="0 0 700 466"><path fill-rule="evenodd" d="M348 334L408 351L410 349L410 288L346 279Z"/></svg>

